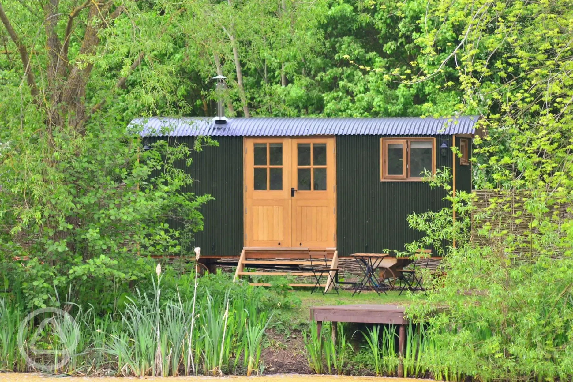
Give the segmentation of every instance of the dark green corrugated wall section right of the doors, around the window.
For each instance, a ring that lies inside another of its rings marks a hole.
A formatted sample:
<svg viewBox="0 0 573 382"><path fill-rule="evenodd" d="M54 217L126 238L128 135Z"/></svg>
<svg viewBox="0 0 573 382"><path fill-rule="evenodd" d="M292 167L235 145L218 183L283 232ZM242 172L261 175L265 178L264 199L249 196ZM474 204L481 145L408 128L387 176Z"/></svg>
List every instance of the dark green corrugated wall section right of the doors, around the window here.
<svg viewBox="0 0 573 382"><path fill-rule="evenodd" d="M406 216L445 206L444 190L425 182L380 182L380 137L336 137L337 249L340 256L403 250L419 238ZM393 138L396 136L392 136ZM436 137L436 167L452 168L452 152L442 158ZM452 137L447 137L448 145ZM457 182L456 182L457 183Z"/></svg>

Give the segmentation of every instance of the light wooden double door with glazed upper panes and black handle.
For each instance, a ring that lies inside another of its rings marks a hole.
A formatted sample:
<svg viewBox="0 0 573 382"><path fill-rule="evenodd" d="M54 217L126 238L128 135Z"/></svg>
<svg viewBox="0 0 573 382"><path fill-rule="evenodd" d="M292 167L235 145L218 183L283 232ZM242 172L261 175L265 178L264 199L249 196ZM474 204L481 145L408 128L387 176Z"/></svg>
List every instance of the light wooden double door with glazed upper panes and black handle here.
<svg viewBox="0 0 573 382"><path fill-rule="evenodd" d="M245 246L336 246L335 139L245 139Z"/></svg>

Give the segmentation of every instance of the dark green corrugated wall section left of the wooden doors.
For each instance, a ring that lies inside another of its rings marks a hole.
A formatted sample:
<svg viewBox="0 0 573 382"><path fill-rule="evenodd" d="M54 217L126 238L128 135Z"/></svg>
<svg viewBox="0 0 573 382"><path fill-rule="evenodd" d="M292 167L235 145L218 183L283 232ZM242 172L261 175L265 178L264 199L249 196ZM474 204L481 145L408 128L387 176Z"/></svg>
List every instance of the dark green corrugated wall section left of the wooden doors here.
<svg viewBox="0 0 573 382"><path fill-rule="evenodd" d="M195 234L193 246L201 247L202 255L236 255L243 247L243 138L217 137L219 147L204 147L193 153L193 163L176 164L185 168L195 182L185 192L211 194L215 200L201 208L203 231ZM171 137L170 143L193 147L193 137ZM180 223L170 220L171 227Z"/></svg>

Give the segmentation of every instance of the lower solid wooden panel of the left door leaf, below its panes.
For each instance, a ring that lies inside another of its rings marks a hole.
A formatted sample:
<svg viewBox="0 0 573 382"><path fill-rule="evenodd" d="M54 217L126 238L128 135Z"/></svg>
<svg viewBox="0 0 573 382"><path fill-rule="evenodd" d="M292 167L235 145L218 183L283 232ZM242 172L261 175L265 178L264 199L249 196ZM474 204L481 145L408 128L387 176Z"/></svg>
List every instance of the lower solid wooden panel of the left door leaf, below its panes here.
<svg viewBox="0 0 573 382"><path fill-rule="evenodd" d="M248 247L291 246L291 201L248 200L246 210Z"/></svg>

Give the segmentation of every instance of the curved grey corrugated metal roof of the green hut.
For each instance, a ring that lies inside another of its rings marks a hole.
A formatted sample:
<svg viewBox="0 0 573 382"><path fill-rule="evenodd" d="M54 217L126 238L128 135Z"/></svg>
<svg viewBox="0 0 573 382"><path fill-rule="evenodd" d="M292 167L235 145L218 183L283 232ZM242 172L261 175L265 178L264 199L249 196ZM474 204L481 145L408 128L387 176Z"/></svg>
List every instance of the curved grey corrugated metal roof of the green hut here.
<svg viewBox="0 0 573 382"><path fill-rule="evenodd" d="M217 125L211 118L138 118L129 127L142 136L305 136L473 134L477 116L452 118L233 118Z"/></svg>

